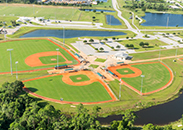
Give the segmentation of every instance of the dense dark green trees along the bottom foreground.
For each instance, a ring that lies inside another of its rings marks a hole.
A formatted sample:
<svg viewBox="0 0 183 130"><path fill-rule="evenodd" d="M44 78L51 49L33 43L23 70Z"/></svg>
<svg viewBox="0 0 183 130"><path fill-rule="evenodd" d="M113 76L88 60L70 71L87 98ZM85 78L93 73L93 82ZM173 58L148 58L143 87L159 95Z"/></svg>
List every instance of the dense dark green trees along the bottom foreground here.
<svg viewBox="0 0 183 130"><path fill-rule="evenodd" d="M41 105L38 99L23 92L21 81L5 82L0 88L0 130L135 130L136 115L127 110L120 121L112 121L108 127L97 120L101 107L89 112L82 104L76 113L64 115L54 106ZM147 124L144 130L172 130L172 126Z"/></svg>

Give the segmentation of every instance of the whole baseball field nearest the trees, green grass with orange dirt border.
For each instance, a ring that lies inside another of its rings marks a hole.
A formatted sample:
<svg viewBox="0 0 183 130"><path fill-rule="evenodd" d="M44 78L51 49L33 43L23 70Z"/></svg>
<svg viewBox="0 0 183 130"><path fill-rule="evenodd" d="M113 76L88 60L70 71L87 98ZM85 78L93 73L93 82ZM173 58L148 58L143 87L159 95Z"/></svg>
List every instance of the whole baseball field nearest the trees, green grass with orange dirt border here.
<svg viewBox="0 0 183 130"><path fill-rule="evenodd" d="M31 95L62 104L98 104L117 100L107 84L88 70L52 74L23 82L24 90Z"/></svg>

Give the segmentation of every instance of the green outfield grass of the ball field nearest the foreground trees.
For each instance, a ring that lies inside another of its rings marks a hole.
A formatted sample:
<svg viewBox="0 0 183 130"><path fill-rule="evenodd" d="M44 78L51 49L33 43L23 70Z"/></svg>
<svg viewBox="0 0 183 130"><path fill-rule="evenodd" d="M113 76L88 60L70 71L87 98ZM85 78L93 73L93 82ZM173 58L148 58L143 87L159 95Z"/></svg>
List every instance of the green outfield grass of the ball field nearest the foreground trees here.
<svg viewBox="0 0 183 130"><path fill-rule="evenodd" d="M97 102L111 100L106 89L94 82L85 86L72 86L62 81L62 75L25 82L25 86L36 94L64 101Z"/></svg>

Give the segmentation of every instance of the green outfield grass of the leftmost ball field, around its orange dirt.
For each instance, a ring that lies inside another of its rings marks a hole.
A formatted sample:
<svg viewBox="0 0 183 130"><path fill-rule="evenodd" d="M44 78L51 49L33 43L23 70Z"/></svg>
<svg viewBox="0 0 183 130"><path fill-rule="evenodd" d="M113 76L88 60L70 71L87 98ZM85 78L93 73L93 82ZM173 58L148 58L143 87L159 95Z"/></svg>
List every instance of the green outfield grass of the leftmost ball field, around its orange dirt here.
<svg viewBox="0 0 183 130"><path fill-rule="evenodd" d="M15 62L18 61L17 69L20 70L31 70L43 67L53 67L53 65L30 67L25 63L25 59L35 53L56 51L55 44L48 40L23 40L23 41L10 41L0 44L0 60L3 61L0 64L0 72L10 71L10 53L7 49L12 48L12 66L13 71L16 70ZM77 61L68 54L65 50L60 48L60 53L62 53L69 61L73 61L72 64L76 64ZM56 64L56 63L55 63Z"/></svg>

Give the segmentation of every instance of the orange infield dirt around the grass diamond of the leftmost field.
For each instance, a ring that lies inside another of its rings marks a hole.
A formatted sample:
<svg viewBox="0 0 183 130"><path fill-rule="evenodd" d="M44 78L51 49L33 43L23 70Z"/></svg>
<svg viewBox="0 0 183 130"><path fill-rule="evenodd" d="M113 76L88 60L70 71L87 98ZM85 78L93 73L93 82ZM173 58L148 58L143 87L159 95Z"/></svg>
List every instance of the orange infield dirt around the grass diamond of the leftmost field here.
<svg viewBox="0 0 183 130"><path fill-rule="evenodd" d="M49 51L49 52L40 52L40 53L36 53L33 55L28 56L25 59L25 63L30 66L30 67L37 67L37 66L46 66L46 65L56 65L57 63L51 63L51 64L43 64L39 57L44 57L44 56L54 56L57 55L57 51ZM58 55L62 56L66 61L65 62L59 62L59 64L63 64L63 63L72 63L72 61L68 61L67 58L65 58L65 56L58 52Z"/></svg>

